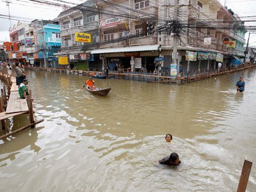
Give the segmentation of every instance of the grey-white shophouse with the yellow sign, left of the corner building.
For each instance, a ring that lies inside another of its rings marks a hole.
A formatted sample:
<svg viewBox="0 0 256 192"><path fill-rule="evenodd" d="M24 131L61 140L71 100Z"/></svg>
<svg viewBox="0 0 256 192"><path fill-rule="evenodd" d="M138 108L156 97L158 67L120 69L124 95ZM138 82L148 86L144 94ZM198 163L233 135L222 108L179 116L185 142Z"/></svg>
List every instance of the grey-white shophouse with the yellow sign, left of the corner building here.
<svg viewBox="0 0 256 192"><path fill-rule="evenodd" d="M97 13L94 1L86 1L61 12L56 18L61 25L61 50L57 55L68 57L71 68L98 69L99 63L101 65L99 55L94 57L87 53L88 44L90 47L94 47L99 42L99 15ZM90 34L92 42L88 44L76 42L76 33Z"/></svg>

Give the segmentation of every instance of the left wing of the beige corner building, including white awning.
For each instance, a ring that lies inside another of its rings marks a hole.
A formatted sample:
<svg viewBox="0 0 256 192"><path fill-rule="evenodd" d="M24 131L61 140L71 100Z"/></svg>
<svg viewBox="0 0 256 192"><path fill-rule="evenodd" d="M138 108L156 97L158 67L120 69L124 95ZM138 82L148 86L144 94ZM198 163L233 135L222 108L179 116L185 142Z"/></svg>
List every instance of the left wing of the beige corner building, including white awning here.
<svg viewBox="0 0 256 192"><path fill-rule="evenodd" d="M154 71L159 55L157 33L149 34L147 23L158 26L159 1L109 1L98 3L102 68ZM109 13L109 14L106 14Z"/></svg>

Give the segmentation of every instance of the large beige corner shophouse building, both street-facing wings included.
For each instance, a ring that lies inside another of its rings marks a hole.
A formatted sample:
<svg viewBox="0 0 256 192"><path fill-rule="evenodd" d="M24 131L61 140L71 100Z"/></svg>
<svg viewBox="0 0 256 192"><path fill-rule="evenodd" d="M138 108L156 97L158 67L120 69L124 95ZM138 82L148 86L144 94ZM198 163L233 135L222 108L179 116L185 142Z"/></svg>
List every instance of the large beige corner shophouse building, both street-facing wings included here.
<svg viewBox="0 0 256 192"><path fill-rule="evenodd" d="M173 37L168 30L173 20L173 5L171 0L99 2L101 45L91 54L99 54L102 65L111 69L149 72L159 65L167 74L173 62ZM222 59L223 67L228 67L243 55L246 33L243 21L219 1L180 0L178 20L183 24L178 38L177 55L181 65L178 71L214 70L217 58ZM155 33L149 29L152 26ZM166 31L160 34L157 30L161 28ZM225 37L232 41L232 46L222 43ZM186 59L187 51L195 53L193 60ZM164 60L155 61L159 56Z"/></svg>

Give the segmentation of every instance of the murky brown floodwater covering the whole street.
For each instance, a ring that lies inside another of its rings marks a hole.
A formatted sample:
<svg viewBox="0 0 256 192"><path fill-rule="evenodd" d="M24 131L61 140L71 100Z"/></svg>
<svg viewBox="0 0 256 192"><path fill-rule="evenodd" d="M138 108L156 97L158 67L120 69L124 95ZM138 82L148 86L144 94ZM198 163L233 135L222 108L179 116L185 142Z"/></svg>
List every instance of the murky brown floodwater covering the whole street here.
<svg viewBox="0 0 256 192"><path fill-rule="evenodd" d="M85 76L27 74L45 121L0 141L0 191L236 191L245 159L255 191L255 69L180 86L95 79L106 97L80 91ZM181 165L159 165L171 152Z"/></svg>

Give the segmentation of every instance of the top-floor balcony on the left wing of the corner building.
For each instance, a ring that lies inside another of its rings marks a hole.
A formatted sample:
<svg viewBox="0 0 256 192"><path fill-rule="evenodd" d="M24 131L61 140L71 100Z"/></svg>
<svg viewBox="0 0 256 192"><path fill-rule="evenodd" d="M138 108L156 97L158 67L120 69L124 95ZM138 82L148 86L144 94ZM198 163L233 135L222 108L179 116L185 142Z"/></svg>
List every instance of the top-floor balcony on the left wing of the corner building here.
<svg viewBox="0 0 256 192"><path fill-rule="evenodd" d="M137 9L137 11L131 11L131 16L135 20L141 20L142 18L153 18L158 16L158 9L153 6L149 6L143 9Z"/></svg>

